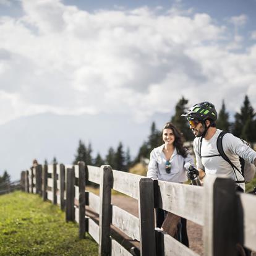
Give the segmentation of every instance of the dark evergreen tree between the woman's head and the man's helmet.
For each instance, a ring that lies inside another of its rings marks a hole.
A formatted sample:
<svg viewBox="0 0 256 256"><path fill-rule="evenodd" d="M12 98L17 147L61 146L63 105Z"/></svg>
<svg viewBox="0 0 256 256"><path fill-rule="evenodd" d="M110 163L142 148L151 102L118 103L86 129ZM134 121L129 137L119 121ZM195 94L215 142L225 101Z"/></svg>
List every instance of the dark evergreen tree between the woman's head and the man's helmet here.
<svg viewBox="0 0 256 256"><path fill-rule="evenodd" d="M194 135L189 129L189 122L187 122L186 117L181 116L186 112L188 102L189 101L182 96L181 100L179 100L175 106L175 114L171 117L171 122L183 134L185 140L192 141L194 140Z"/></svg>

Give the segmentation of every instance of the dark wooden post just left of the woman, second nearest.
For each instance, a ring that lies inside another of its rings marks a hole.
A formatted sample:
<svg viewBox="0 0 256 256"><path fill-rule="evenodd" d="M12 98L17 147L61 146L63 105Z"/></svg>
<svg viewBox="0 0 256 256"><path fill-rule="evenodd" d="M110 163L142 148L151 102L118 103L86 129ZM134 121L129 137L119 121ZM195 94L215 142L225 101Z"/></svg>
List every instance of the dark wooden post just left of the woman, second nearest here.
<svg viewBox="0 0 256 256"><path fill-rule="evenodd" d="M139 185L140 255L155 256L155 216L153 179L142 178Z"/></svg>

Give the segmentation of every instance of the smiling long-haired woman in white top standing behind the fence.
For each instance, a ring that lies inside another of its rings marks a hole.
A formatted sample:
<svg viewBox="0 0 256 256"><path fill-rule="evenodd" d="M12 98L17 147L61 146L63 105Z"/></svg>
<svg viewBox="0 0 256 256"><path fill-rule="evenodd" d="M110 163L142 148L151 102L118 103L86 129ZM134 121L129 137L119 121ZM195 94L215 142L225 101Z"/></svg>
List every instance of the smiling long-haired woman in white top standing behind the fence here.
<svg viewBox="0 0 256 256"><path fill-rule="evenodd" d="M147 177L179 183L187 181L184 165L187 162L194 165L194 160L183 146L181 133L171 122L167 122L163 127L162 138L164 144L154 148L150 153ZM166 214L164 210L156 209L156 226L158 228L163 224ZM181 218L178 237L181 237L179 241L182 244L189 246L186 224L186 219Z"/></svg>

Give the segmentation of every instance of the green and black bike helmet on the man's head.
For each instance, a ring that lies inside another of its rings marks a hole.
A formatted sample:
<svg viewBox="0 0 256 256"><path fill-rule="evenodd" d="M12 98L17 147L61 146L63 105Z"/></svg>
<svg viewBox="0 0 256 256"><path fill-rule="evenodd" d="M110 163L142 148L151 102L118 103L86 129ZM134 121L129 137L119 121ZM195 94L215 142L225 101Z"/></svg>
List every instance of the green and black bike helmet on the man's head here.
<svg viewBox="0 0 256 256"><path fill-rule="evenodd" d="M203 101L192 106L192 108L182 114L182 116L186 116L189 121L205 121L206 119L216 121L218 113L213 104L208 101Z"/></svg>

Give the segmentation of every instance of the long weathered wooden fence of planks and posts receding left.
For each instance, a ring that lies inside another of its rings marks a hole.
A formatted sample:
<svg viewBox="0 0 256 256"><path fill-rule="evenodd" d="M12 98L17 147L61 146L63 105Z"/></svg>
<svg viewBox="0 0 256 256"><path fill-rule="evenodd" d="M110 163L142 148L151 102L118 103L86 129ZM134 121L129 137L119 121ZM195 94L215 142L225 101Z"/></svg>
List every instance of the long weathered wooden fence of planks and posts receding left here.
<svg viewBox="0 0 256 256"><path fill-rule="evenodd" d="M88 181L100 186L100 196L86 190ZM22 184L26 192L40 194L65 210L66 221L79 223L79 237L87 232L99 244L99 255L198 255L155 230L154 208L203 226L204 255L236 255L237 242L256 250L256 197L235 192L234 182L224 177L208 177L203 187L197 187L80 162L30 168L22 172ZM138 200L139 218L111 205L112 189ZM89 217L90 211L98 220ZM128 237L127 243L113 229Z"/></svg>

